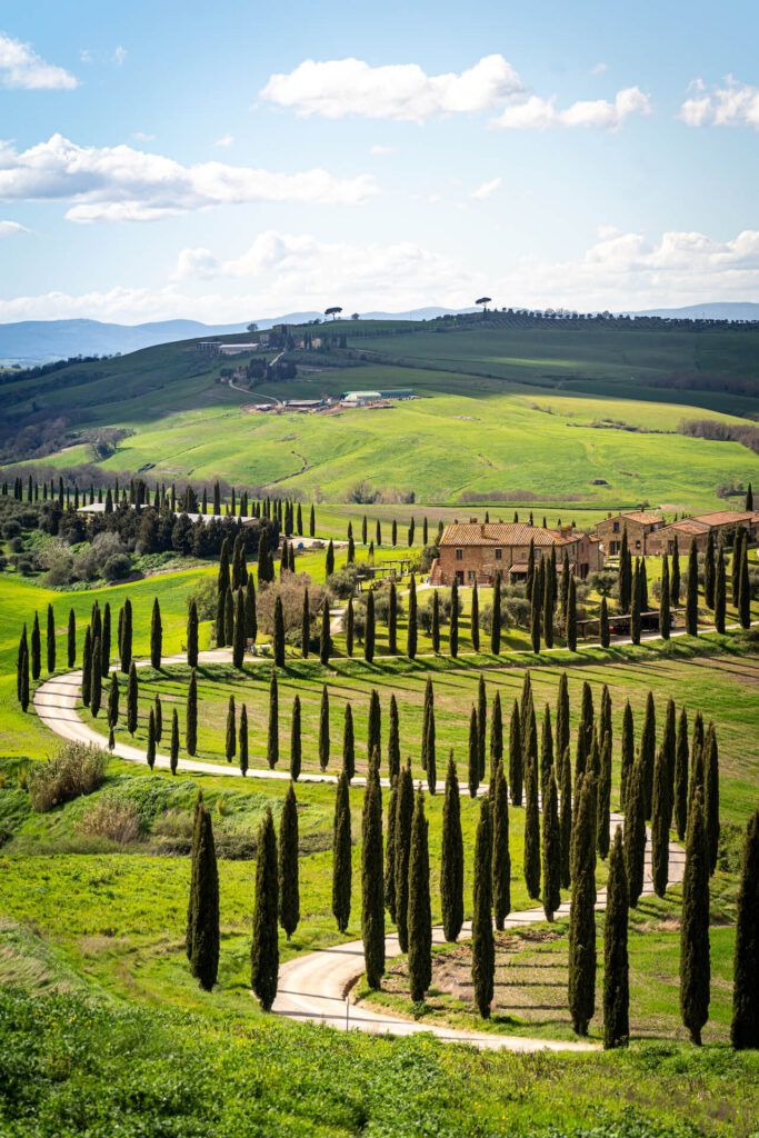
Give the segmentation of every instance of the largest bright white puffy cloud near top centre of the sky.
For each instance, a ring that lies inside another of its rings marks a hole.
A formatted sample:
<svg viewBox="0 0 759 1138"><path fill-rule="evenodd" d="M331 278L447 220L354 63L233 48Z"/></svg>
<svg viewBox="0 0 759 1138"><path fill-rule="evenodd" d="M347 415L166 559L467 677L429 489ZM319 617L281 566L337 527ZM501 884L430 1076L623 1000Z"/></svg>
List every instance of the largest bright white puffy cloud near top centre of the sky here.
<svg viewBox="0 0 759 1138"><path fill-rule="evenodd" d="M418 64L371 67L362 59L306 59L288 75L272 75L261 94L299 115L423 123L437 113L490 110L523 91L511 64L492 55L444 75L428 75Z"/></svg>

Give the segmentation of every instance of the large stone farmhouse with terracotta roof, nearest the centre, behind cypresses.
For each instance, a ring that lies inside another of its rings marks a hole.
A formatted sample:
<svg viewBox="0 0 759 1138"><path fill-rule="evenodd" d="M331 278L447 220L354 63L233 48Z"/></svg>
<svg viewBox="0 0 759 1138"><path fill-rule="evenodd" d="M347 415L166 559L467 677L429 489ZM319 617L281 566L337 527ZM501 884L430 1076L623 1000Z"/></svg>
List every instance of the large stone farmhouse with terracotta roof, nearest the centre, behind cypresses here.
<svg viewBox="0 0 759 1138"><path fill-rule="evenodd" d="M527 577L530 541L535 560L554 555L561 569L564 551L570 571L584 579L603 567L597 537L562 526L559 530L527 522L455 522L440 537L440 552L430 570L431 585L492 585L496 575L504 582Z"/></svg>

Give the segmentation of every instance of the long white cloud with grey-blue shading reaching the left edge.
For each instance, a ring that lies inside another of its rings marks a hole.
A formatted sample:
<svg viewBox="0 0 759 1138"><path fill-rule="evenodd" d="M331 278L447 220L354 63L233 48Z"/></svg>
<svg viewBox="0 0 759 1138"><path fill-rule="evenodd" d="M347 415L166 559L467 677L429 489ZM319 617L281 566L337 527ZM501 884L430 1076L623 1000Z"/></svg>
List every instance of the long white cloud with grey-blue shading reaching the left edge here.
<svg viewBox="0 0 759 1138"><path fill-rule="evenodd" d="M66 217L75 222L154 221L253 201L361 205L377 192L369 174L281 174L220 162L182 166L129 146L77 146L60 134L22 152L0 142L0 200L68 200Z"/></svg>

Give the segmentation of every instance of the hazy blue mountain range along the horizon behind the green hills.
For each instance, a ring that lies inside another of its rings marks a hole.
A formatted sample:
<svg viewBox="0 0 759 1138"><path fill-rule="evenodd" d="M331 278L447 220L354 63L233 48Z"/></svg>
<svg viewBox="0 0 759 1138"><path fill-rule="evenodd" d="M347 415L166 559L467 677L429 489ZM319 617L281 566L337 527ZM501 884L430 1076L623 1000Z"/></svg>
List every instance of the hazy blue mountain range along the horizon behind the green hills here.
<svg viewBox="0 0 759 1138"><path fill-rule="evenodd" d="M410 312L364 312L364 320L435 320L436 316L475 308L412 308ZM258 328L273 324L302 324L321 312L290 312L257 320ZM679 320L759 320L759 304L693 304L685 308L650 308L629 312L632 316L662 316ZM247 323L204 324L198 320L162 320L148 324L106 324L99 320L24 320L0 324L0 362L22 364L67 360L76 355L113 355L137 352L154 344L189 340L203 336L230 336L245 332Z"/></svg>

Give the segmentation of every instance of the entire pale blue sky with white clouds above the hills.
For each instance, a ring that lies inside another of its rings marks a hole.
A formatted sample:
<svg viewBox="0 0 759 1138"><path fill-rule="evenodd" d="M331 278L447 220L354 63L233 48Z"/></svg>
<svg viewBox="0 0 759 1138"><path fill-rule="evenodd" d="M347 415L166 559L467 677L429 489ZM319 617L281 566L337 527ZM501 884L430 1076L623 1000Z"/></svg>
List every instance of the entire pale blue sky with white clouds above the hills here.
<svg viewBox="0 0 759 1138"><path fill-rule="evenodd" d="M758 13L10 0L0 321L759 300Z"/></svg>

